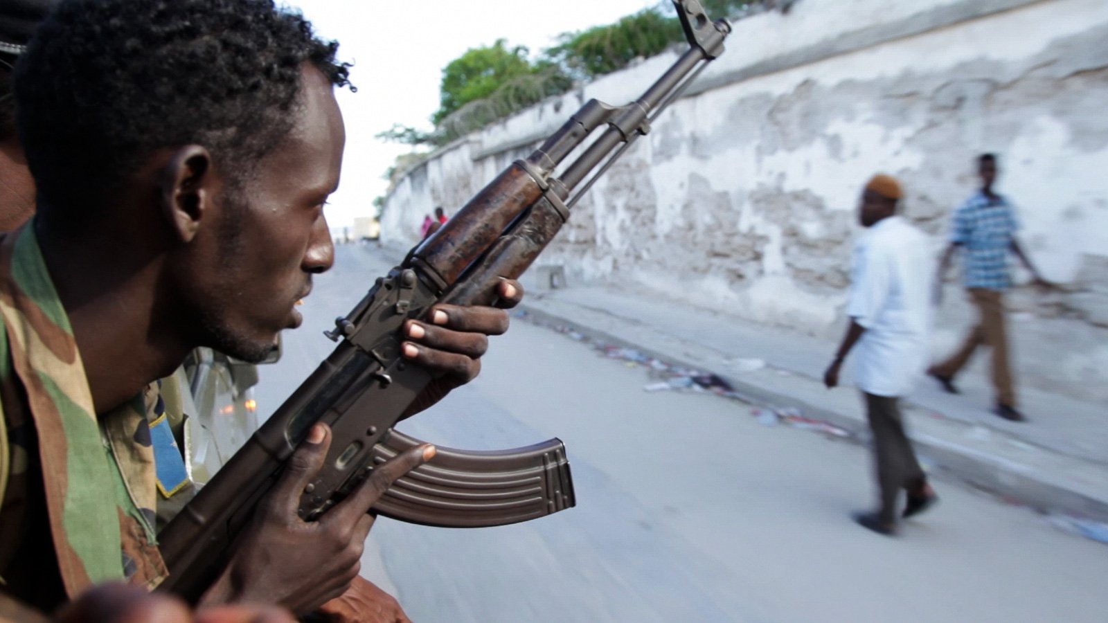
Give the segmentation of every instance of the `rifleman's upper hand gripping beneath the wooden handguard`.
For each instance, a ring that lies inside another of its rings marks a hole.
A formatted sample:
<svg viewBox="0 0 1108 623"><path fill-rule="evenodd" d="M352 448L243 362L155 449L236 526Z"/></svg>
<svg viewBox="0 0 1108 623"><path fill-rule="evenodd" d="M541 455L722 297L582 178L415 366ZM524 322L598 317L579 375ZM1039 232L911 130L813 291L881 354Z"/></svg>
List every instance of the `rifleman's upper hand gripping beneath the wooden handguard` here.
<svg viewBox="0 0 1108 623"><path fill-rule="evenodd" d="M507 330L507 312L523 299L523 286L503 279L496 289L495 307L435 305L431 323L408 320L403 331L404 357L432 372L434 379L416 398L403 418L442 400L452 389L473 380L481 371L481 356L489 349L489 336Z"/></svg>

